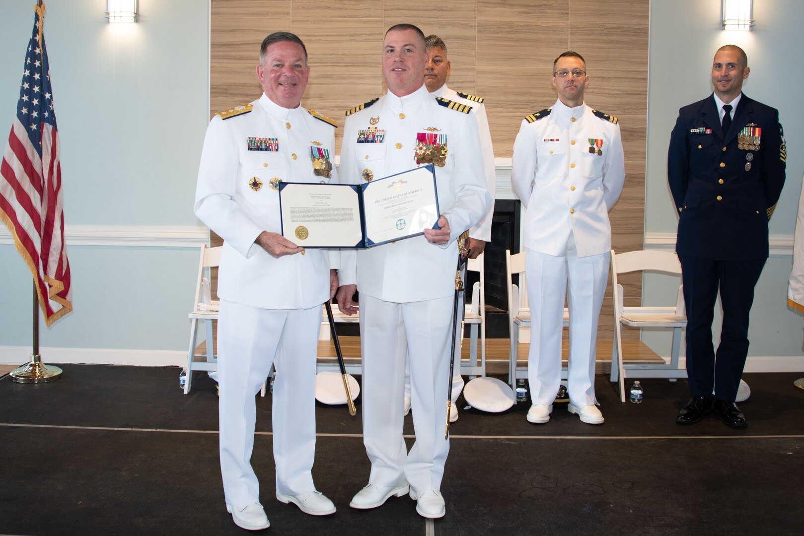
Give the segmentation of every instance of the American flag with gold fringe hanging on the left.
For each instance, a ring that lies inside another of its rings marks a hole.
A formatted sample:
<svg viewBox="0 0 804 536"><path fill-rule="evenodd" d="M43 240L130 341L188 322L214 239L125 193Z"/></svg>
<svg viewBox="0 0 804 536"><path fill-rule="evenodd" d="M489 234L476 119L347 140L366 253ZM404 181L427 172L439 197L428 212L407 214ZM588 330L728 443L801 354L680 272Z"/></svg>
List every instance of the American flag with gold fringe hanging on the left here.
<svg viewBox="0 0 804 536"><path fill-rule="evenodd" d="M17 115L0 164L0 219L31 269L45 323L72 311L64 245L59 136L43 34L44 5L35 6Z"/></svg>

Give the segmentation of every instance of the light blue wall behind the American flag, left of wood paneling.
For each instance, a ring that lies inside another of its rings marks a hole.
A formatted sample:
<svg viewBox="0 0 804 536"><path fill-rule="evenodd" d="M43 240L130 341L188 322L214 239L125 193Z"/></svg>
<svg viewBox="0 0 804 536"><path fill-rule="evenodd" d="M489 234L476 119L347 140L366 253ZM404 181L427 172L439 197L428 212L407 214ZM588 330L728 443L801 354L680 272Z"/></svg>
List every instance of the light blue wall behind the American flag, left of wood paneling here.
<svg viewBox="0 0 804 536"><path fill-rule="evenodd" d="M3 146L35 3L0 3ZM201 226L192 204L209 119L209 0L140 0L137 24L106 23L104 9L98 0L47 2L65 223ZM51 329L40 323L43 346L187 348L196 249L68 241L68 255L75 309ZM0 244L0 354L31 344L31 286L14 247Z"/></svg>

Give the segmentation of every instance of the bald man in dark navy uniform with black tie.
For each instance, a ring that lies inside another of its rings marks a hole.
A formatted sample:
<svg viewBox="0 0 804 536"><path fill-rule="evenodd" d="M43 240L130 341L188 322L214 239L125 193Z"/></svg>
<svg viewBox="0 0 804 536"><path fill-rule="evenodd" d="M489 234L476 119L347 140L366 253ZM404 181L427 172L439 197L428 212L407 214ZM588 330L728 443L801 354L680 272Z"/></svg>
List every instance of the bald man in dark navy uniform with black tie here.
<svg viewBox="0 0 804 536"><path fill-rule="evenodd" d="M667 179L679 210L675 251L687 302L687 375L692 398L676 416L697 423L716 411L745 428L734 403L748 354L749 312L765 260L768 220L785 183L785 138L776 109L742 94L749 77L740 47L720 47L715 92L681 108L670 137ZM718 290L720 346L712 344Z"/></svg>

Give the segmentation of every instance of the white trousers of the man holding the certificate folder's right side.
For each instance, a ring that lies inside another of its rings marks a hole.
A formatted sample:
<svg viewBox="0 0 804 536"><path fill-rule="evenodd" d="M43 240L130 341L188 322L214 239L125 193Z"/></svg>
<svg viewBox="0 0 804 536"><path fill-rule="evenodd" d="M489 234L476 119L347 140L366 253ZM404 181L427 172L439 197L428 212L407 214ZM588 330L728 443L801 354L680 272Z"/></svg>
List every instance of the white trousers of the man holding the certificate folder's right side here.
<svg viewBox="0 0 804 536"><path fill-rule="evenodd" d="M392 303L360 296L363 444L369 483L417 492L441 489L449 440L444 439L453 298ZM402 437L406 355L416 442Z"/></svg>

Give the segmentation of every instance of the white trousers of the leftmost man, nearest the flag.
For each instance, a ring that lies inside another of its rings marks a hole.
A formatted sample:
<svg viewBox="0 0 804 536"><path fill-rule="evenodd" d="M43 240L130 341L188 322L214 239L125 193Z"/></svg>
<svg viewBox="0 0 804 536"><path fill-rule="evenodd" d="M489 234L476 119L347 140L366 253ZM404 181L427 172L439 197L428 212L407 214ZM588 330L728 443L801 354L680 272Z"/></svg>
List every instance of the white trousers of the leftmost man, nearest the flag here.
<svg viewBox="0 0 804 536"><path fill-rule="evenodd" d="M226 502L259 501L251 466L256 402L271 370L273 459L277 491L298 495L315 489L315 370L322 305L310 309L258 309L221 301L218 321L220 470Z"/></svg>

